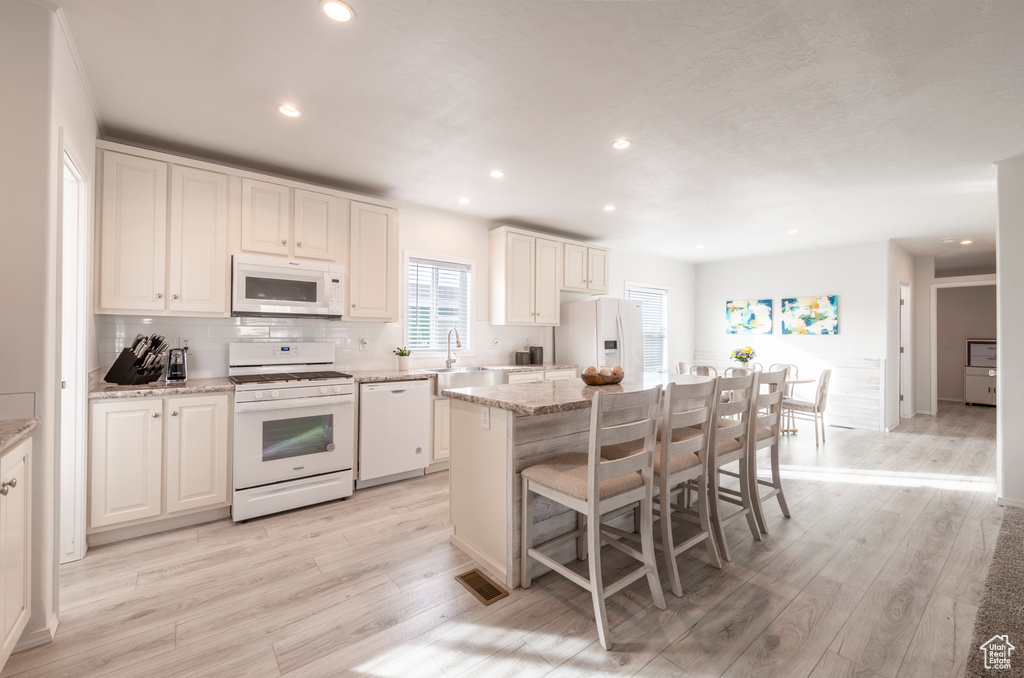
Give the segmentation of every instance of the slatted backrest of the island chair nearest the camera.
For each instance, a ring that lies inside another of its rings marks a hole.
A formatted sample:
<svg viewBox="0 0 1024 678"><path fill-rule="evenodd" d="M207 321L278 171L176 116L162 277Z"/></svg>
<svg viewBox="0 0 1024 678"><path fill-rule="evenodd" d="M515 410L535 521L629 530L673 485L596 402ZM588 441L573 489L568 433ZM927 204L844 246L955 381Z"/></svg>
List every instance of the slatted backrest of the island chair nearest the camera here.
<svg viewBox="0 0 1024 678"><path fill-rule="evenodd" d="M654 469L654 436L662 405L662 387L643 391L597 391L591 404L587 496L597 498L601 480L640 471L650 482ZM601 448L643 440L637 452L617 459L603 459Z"/></svg>

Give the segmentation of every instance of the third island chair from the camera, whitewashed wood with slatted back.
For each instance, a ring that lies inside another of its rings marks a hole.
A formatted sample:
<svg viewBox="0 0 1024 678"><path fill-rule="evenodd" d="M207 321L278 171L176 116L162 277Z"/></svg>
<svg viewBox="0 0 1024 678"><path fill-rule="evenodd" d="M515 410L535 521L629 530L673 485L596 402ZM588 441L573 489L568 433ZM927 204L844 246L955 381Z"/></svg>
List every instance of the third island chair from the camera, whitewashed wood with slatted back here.
<svg viewBox="0 0 1024 678"><path fill-rule="evenodd" d="M729 545L725 541L725 527L734 520L746 518L751 536L761 541L761 528L754 512L755 489L751 485L751 478L756 477L757 460L750 454L751 446L748 442L759 377L760 373L757 372L741 377L722 377L716 387L716 397L719 400L716 416L718 425L711 427L712 439L708 442L710 467L708 482L711 489L712 526L719 553L726 560L731 558ZM723 396L729 396L730 399L723 401ZM733 463L737 463L736 471L724 468ZM723 475L736 478L739 481L739 489L723 485ZM722 502L739 508L732 513L723 514Z"/></svg>

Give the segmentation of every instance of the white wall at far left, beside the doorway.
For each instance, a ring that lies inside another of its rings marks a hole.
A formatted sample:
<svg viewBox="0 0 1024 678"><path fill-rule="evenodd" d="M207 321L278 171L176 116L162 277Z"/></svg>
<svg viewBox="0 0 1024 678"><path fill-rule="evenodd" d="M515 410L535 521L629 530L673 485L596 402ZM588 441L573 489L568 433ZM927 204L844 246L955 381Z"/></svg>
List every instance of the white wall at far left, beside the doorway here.
<svg viewBox="0 0 1024 678"><path fill-rule="evenodd" d="M19 0L0 3L0 392L31 401L32 606L19 646L52 637L56 619L57 290L62 180L59 140L91 171L96 123L56 15ZM0 413L2 415L2 413Z"/></svg>

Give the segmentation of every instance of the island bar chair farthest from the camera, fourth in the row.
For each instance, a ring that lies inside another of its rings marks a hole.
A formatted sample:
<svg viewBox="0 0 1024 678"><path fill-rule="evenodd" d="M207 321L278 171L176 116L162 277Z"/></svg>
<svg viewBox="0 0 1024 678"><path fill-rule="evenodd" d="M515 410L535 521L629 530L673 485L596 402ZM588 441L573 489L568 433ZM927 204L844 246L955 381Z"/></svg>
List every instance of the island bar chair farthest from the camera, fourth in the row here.
<svg viewBox="0 0 1024 678"><path fill-rule="evenodd" d="M765 519L763 508L766 501L775 497L782 510L782 515L790 517L790 507L786 505L785 495L782 493L782 476L778 467L778 441L781 438L784 388L785 370L761 373L758 379L757 401L752 408L751 434L748 437L751 441L751 458L755 460L752 468L757 468L758 451L769 449L771 480L762 479L757 473L752 477L755 517L761 532L765 534L768 534L768 521ZM771 488L771 490L762 495L761 488L763 486Z"/></svg>

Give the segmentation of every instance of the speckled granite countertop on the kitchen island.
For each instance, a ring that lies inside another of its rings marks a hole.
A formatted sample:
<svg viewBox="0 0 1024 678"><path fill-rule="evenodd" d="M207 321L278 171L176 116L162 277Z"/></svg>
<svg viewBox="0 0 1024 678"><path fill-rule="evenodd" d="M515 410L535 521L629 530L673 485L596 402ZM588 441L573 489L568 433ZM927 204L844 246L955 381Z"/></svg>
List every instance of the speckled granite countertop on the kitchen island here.
<svg viewBox="0 0 1024 678"><path fill-rule="evenodd" d="M509 410L520 415L547 415L569 410L589 408L594 393L605 391L623 393L640 391L654 386L664 386L669 381L675 383L695 383L710 377L691 375L644 375L641 378L625 379L611 386L588 386L579 379L558 381L535 381L527 384L502 384L499 386L474 386L441 391L441 395L466 400L492 408Z"/></svg>

